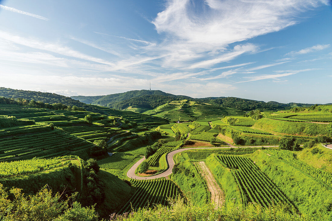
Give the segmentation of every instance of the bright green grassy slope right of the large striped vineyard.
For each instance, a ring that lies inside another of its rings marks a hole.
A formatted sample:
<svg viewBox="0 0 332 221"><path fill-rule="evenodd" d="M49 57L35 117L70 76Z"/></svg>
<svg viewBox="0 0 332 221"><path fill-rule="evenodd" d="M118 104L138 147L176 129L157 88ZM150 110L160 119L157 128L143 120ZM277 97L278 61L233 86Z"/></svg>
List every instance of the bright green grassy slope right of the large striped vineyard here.
<svg viewBox="0 0 332 221"><path fill-rule="evenodd" d="M294 202L301 213L322 215L332 218L332 190L326 188L311 176L268 156L264 151L250 155L250 159Z"/></svg>

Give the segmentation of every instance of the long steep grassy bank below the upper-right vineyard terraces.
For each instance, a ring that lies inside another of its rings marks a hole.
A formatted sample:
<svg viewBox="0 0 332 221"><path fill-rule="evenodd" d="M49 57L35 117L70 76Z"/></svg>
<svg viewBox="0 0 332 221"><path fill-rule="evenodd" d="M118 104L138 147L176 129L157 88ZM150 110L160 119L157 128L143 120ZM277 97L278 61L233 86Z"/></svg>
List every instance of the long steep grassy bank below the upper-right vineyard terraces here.
<svg viewBox="0 0 332 221"><path fill-rule="evenodd" d="M283 134L299 135L324 135L327 134L327 124L287 122L262 118L253 126L265 131L278 132Z"/></svg>

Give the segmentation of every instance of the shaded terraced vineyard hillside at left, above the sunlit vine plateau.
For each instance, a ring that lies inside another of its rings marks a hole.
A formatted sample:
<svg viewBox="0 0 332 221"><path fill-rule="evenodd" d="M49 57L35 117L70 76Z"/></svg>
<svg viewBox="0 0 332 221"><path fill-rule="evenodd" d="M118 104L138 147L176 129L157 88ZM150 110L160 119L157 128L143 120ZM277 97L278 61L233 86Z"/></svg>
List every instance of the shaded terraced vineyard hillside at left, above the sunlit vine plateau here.
<svg viewBox="0 0 332 221"><path fill-rule="evenodd" d="M74 155L94 147L91 142L48 125L11 127L0 131L0 161Z"/></svg>

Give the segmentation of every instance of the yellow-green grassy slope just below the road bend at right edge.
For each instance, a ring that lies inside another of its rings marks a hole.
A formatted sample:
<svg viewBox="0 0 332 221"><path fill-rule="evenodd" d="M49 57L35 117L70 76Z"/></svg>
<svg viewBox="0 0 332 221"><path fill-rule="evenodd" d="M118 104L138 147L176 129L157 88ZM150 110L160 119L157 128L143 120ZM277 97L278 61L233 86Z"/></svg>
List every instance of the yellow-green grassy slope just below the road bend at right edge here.
<svg viewBox="0 0 332 221"><path fill-rule="evenodd" d="M316 144L316 147L321 153L312 154L311 149L308 148L298 152L295 151L294 153L297 154L297 159L302 162L332 173L332 150L323 147L320 143Z"/></svg>

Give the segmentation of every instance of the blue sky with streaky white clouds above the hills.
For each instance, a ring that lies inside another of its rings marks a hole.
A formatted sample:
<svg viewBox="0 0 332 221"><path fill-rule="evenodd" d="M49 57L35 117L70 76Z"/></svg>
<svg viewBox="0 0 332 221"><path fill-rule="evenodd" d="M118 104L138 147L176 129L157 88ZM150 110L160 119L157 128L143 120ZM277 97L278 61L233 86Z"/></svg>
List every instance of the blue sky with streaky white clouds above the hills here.
<svg viewBox="0 0 332 221"><path fill-rule="evenodd" d="M329 0L0 0L0 86L329 103Z"/></svg>

